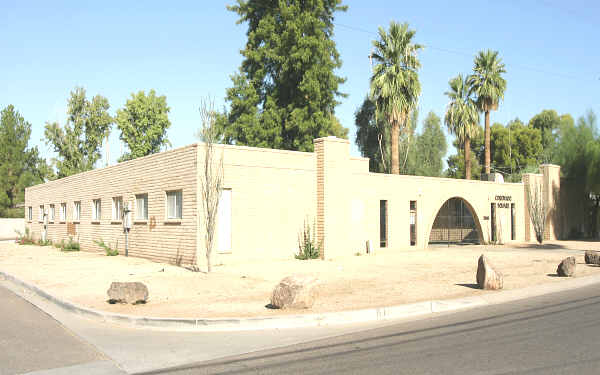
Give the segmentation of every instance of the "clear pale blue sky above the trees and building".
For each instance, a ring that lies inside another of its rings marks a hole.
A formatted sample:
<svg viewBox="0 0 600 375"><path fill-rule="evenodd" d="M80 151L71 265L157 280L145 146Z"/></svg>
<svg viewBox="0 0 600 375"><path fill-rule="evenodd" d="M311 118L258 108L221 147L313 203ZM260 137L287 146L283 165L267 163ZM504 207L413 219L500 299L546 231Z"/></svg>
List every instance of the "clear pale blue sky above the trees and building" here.
<svg viewBox="0 0 600 375"><path fill-rule="evenodd" d="M110 112L131 94L150 89L171 108L172 147L196 142L198 108L210 97L223 108L230 76L242 61L246 24L226 9L234 1L20 1L0 0L0 108L12 104L31 123L31 146L54 157L44 125L64 124L69 93L108 98ZM369 88L368 55L378 27L408 22L420 53L419 127L428 112L443 117L448 80L469 74L475 54L499 51L507 89L491 121L523 122L544 109L575 119L600 115L600 2L343 1L335 14L334 40L345 77L336 116L350 129L351 153L359 156L354 113ZM483 121L483 116L482 116ZM444 129L446 131L446 129ZM110 137L110 163L122 146ZM453 138L448 135L451 145ZM103 152L104 152L103 148ZM454 153L449 147L448 154Z"/></svg>

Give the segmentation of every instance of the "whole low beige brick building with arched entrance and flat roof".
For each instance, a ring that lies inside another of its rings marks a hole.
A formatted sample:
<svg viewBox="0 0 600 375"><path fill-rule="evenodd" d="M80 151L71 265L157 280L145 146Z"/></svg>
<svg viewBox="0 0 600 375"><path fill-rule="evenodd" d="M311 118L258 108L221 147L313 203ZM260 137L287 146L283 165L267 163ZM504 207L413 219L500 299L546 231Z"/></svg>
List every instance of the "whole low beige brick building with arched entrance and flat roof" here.
<svg viewBox="0 0 600 375"><path fill-rule="evenodd" d="M289 258L303 223L316 225L323 257L426 248L436 242L523 242L535 238L525 184L544 199L560 192L559 167L542 166L524 183L370 173L350 156L347 140L315 140L315 152L217 145L223 157L214 263ZM128 253L166 262L204 264L200 194L204 146L179 149L32 186L25 220L35 237L95 241L124 254L124 207L131 209ZM47 216L47 219L44 218ZM551 215L547 238L563 230ZM118 242L118 245L117 245Z"/></svg>

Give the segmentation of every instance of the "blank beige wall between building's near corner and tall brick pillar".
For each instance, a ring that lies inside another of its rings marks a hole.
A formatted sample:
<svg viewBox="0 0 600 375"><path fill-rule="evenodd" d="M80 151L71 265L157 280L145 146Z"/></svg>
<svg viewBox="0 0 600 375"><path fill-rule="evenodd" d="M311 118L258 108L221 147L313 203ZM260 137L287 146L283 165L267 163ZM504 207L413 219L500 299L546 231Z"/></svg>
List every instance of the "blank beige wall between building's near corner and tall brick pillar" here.
<svg viewBox="0 0 600 375"><path fill-rule="evenodd" d="M199 145L199 181L204 147ZM213 264L293 257L298 252L298 233L304 221L312 227L316 219L315 154L216 145L217 160L221 153L223 187L231 189L232 246L225 253L215 247ZM201 202L199 209L199 251L205 254ZM215 243L218 236L217 230Z"/></svg>

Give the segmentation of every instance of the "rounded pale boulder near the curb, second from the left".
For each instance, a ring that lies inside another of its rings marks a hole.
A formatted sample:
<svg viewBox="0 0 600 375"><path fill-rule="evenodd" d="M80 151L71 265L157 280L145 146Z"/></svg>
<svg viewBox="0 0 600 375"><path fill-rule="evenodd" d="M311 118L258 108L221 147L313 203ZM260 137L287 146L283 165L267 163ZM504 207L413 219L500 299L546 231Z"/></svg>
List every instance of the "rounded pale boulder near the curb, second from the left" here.
<svg viewBox="0 0 600 375"><path fill-rule="evenodd" d="M309 309L315 303L320 284L319 279L313 276L288 276L273 289L271 306L277 309Z"/></svg>

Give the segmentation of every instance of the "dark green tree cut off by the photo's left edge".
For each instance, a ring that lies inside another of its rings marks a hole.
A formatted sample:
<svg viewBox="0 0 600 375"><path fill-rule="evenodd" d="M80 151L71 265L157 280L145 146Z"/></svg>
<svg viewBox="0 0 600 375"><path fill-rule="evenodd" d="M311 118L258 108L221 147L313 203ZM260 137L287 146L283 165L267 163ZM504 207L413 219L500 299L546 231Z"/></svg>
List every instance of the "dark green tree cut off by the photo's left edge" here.
<svg viewBox="0 0 600 375"><path fill-rule="evenodd" d="M0 113L0 217L23 217L17 203L25 201L25 188L51 177L51 169L29 147L31 124L9 105Z"/></svg>

